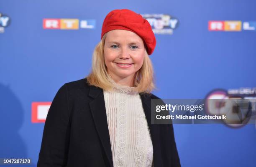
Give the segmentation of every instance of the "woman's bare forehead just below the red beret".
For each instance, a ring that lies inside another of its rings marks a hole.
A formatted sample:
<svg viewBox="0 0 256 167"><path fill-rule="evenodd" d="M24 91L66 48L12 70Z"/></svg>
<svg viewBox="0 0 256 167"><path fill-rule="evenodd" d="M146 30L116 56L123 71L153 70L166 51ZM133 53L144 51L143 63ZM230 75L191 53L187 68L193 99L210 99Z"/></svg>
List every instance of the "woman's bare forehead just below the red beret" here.
<svg viewBox="0 0 256 167"><path fill-rule="evenodd" d="M143 40L140 36L138 36L136 33L133 33L132 31L128 30L111 30L106 34L106 41L129 41L129 42L137 42L137 43L143 43Z"/></svg>

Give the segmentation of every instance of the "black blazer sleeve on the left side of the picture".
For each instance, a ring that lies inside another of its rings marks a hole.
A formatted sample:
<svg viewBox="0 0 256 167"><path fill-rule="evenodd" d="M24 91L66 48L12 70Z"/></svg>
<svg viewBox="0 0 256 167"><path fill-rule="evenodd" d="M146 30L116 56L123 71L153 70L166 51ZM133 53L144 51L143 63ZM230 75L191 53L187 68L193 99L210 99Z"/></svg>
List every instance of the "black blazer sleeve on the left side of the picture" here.
<svg viewBox="0 0 256 167"><path fill-rule="evenodd" d="M37 167L64 167L70 139L70 113L67 84L55 95L44 124Z"/></svg>

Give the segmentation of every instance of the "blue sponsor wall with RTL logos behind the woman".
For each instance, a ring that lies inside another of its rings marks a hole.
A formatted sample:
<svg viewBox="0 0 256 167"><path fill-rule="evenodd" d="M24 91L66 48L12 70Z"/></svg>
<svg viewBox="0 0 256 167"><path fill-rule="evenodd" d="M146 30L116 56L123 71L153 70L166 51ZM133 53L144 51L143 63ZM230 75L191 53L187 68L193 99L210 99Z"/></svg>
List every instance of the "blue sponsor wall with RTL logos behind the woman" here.
<svg viewBox="0 0 256 167"><path fill-rule="evenodd" d="M0 158L31 158L36 166L51 101L90 72L114 9L140 13L152 26L157 96L255 98L255 7L254 0L1 0ZM175 124L174 132L184 167L256 164L255 124Z"/></svg>

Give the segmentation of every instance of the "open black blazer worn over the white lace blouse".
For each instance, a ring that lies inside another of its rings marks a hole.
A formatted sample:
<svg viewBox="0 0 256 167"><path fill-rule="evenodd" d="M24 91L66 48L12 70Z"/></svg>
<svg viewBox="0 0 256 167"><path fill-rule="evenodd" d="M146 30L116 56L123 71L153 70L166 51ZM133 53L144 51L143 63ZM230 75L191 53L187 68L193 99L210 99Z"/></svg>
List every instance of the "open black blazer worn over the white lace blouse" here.
<svg viewBox="0 0 256 167"><path fill-rule="evenodd" d="M179 167L172 124L151 124L151 99L140 94L153 144L154 167ZM87 79L65 83L48 111L38 167L113 167L103 90Z"/></svg>

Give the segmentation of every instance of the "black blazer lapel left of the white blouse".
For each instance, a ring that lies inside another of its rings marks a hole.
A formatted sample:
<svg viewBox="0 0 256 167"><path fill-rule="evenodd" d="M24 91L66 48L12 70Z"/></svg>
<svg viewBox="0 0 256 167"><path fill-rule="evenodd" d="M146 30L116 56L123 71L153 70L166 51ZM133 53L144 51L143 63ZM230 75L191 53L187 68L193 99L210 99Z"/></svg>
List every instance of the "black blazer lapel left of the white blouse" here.
<svg viewBox="0 0 256 167"><path fill-rule="evenodd" d="M108 162L110 166L113 167L114 165L103 90L95 86L90 86L89 96L93 98L93 100L90 102L90 109L97 133L108 157Z"/></svg>

